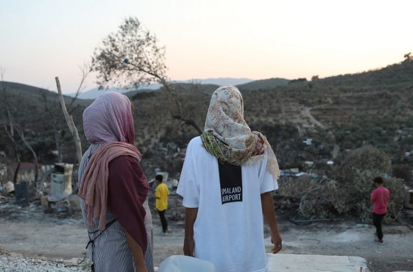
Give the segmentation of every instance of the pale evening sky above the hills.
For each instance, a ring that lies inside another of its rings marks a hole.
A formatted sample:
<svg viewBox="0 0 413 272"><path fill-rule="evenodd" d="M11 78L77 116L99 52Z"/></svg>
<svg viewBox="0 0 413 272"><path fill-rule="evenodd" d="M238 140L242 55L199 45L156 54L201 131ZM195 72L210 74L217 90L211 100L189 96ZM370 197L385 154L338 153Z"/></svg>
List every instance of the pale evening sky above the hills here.
<svg viewBox="0 0 413 272"><path fill-rule="evenodd" d="M63 92L102 38L134 16L166 46L172 80L326 77L413 51L411 0L0 0L4 80ZM96 86L94 75L86 90Z"/></svg>

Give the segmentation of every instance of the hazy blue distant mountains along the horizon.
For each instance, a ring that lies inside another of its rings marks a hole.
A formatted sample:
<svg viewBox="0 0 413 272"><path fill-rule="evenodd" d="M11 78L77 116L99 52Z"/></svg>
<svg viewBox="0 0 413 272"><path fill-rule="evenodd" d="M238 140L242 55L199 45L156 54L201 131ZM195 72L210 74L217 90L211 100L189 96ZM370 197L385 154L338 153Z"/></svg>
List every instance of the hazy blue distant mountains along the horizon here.
<svg viewBox="0 0 413 272"><path fill-rule="evenodd" d="M207 78L207 79L191 79L191 80L174 80L173 83L200 83L200 84L210 84L210 85L242 85L253 82L253 79L249 78ZM286 80L288 81L288 80ZM151 85L140 85L138 90L156 90L161 87L160 84L151 84ZM99 90L99 88L93 88L86 92L81 92L78 95L79 99L96 99L98 96L105 92L114 91L119 93L127 93L134 91L136 89L121 89L117 87L110 87L108 89ZM76 93L66 94L68 96L74 97Z"/></svg>

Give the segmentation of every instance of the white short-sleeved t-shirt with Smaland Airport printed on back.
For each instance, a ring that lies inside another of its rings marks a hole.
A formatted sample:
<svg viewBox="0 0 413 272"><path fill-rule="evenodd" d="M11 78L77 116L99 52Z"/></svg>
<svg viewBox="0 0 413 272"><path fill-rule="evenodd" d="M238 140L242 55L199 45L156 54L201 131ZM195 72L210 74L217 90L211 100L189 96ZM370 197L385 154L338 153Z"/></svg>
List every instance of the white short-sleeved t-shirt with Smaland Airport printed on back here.
<svg viewBox="0 0 413 272"><path fill-rule="evenodd" d="M266 170L267 157L241 167L241 187L223 189L217 158L202 146L201 137L189 142L176 192L185 207L198 208L195 257L214 263L217 272L267 270L260 194L278 188Z"/></svg>

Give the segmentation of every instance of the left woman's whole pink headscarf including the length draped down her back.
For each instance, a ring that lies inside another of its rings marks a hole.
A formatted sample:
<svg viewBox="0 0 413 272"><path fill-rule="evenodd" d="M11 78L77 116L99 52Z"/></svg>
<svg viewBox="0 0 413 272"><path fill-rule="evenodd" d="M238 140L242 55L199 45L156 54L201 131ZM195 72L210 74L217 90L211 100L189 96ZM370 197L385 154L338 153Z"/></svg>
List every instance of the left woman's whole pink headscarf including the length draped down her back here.
<svg viewBox="0 0 413 272"><path fill-rule="evenodd" d="M103 230L109 162L121 155L135 157L138 162L141 159L138 149L134 146L135 130L131 102L125 95L116 92L102 94L83 112L83 127L86 139L90 143L104 142L91 155L79 188L79 197L85 200L89 226L92 225L93 218L99 218L99 229Z"/></svg>

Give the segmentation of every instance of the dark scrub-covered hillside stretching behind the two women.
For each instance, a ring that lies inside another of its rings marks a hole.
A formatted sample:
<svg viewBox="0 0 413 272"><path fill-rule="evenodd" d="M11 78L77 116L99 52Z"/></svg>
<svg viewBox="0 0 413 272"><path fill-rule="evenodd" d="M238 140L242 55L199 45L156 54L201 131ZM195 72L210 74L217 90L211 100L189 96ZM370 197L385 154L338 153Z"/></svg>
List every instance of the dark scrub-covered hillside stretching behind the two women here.
<svg viewBox="0 0 413 272"><path fill-rule="evenodd" d="M40 159L53 162L55 150L51 116L44 111L41 94L57 103L56 94L28 85L7 83L14 115L24 124L27 138ZM211 93L217 85L175 84L184 117L201 128ZM304 161L315 164L340 160L346 150L371 144L388 153L394 164L406 165L413 150L413 61L389 65L352 75L338 75L312 81L268 79L239 88L244 98L245 119L253 130L267 135L282 167L303 167ZM171 97L162 91L125 93L135 105L136 144L144 154L144 167L152 173L160 167L172 173L182 166L186 144L197 131L176 119L179 111ZM69 98L67 103L70 102ZM73 116L87 147L82 129L82 112L90 100L77 100ZM4 116L4 111L1 114ZM58 116L56 111L55 116ZM60 118L60 117L59 117ZM60 121L65 144L65 161L74 161L70 133ZM303 140L312 138L306 146ZM179 148L179 149L178 149ZM10 141L0 134L0 151L13 158ZM334 152L333 152L334 151ZM21 147L22 156L31 160ZM179 158L179 159L177 159ZM318 167L318 166L317 166Z"/></svg>

